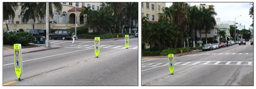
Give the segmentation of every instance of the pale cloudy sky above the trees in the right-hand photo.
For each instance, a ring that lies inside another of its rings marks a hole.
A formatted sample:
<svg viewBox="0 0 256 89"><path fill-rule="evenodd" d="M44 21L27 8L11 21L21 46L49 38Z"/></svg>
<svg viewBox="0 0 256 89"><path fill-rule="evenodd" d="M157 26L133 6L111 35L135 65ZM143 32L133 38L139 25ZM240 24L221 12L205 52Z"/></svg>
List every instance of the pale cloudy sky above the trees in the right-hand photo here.
<svg viewBox="0 0 256 89"><path fill-rule="evenodd" d="M249 15L249 10L252 5L250 3L188 3L190 6L206 4L206 5L214 5L215 12L217 15L215 17L220 17L221 21L234 21L237 17L236 22L245 25L245 29L252 28L250 25L252 24L252 18ZM166 7L171 6L172 3L166 3Z"/></svg>

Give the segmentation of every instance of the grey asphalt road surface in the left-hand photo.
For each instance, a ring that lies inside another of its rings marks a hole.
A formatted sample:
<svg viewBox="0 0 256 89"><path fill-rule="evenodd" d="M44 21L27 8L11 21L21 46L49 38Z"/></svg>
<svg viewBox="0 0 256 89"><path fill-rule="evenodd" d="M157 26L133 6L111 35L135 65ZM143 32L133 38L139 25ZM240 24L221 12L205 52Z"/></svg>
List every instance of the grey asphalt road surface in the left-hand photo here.
<svg viewBox="0 0 256 89"><path fill-rule="evenodd" d="M5 85L138 85L138 38L101 41L95 58L94 41L51 40L62 48L23 54L23 74L19 82L13 56L3 58Z"/></svg>

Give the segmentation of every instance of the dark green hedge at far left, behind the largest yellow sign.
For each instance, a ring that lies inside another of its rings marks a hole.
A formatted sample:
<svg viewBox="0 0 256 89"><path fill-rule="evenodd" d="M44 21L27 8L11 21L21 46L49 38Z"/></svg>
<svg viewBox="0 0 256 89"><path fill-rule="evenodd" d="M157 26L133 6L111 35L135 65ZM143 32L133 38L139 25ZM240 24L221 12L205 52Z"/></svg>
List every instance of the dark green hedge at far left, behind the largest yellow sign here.
<svg viewBox="0 0 256 89"><path fill-rule="evenodd" d="M32 34L28 32L4 32L4 44L20 43L23 46L28 46L33 40Z"/></svg>

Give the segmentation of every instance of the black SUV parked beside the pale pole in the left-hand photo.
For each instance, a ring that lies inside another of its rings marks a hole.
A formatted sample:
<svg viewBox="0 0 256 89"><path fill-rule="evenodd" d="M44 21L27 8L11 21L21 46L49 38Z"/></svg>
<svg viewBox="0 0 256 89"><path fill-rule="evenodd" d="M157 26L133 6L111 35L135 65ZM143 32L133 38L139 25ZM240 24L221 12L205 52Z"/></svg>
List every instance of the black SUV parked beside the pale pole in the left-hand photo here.
<svg viewBox="0 0 256 89"><path fill-rule="evenodd" d="M61 38L62 40L71 39L71 34L72 33L70 30L57 30L49 34L49 39L58 39L58 38Z"/></svg>

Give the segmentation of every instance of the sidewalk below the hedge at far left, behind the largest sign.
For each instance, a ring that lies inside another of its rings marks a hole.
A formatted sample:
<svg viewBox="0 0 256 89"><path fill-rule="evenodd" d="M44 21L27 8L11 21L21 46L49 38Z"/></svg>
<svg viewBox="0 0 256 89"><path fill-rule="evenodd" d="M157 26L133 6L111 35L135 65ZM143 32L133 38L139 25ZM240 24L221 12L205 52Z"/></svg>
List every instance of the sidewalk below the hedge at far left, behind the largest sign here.
<svg viewBox="0 0 256 89"><path fill-rule="evenodd" d="M31 53L31 52L37 52L37 51L44 51L44 50L50 50L50 49L57 49L61 48L62 46L51 46L50 48L42 47L34 47L34 48L26 48L22 49L22 53ZM4 49L3 50L3 56L10 56L13 55L13 49Z"/></svg>

